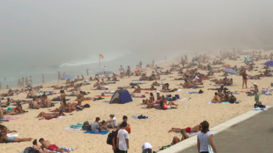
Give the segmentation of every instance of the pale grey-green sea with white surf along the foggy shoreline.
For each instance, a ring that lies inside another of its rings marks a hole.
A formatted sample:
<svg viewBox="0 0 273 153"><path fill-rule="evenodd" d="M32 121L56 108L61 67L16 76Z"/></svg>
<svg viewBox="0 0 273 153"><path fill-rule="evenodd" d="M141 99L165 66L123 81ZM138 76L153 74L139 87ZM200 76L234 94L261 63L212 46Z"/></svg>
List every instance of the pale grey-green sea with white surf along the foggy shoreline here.
<svg viewBox="0 0 273 153"><path fill-rule="evenodd" d="M71 57L73 59L73 57ZM175 56L167 56L167 60L176 58ZM119 72L119 67L122 65L126 70L127 66L131 67L131 71L136 68L136 65L141 60L143 65L146 67L149 63L152 63L152 59L155 60L155 64L165 62L165 55L148 55L148 54L124 54L115 55L108 57L104 55L104 59L101 59L101 70L106 66L107 71ZM180 58L179 58L180 59ZM7 64L6 64L7 63ZM51 64L53 63L53 64ZM79 75L87 76L86 69L89 68L89 76L94 76L99 72L99 55L91 56L84 60L66 60L65 62L57 61L41 61L41 62L5 62L2 61L0 65L0 82L2 84L2 90L9 87L17 87L18 79L22 81L22 77L28 79L32 76L32 84L42 83L42 74L44 74L45 82L57 81L58 71L63 75L74 76L75 78ZM7 80L4 80L6 77ZM24 82L25 84L25 82ZM20 88L20 86L18 87Z"/></svg>

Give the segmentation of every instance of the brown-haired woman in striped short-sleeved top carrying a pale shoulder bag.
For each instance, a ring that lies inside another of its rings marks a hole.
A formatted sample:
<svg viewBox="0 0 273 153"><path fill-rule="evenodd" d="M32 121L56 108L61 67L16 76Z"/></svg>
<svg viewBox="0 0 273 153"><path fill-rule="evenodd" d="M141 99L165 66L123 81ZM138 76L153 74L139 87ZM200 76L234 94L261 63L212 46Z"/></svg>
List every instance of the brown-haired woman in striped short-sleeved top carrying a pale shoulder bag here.
<svg viewBox="0 0 273 153"><path fill-rule="evenodd" d="M212 150L217 153L216 147L213 142L212 133L208 129L209 126L210 125L207 121L203 121L201 132L197 134L197 149L200 153L208 153L209 144Z"/></svg>

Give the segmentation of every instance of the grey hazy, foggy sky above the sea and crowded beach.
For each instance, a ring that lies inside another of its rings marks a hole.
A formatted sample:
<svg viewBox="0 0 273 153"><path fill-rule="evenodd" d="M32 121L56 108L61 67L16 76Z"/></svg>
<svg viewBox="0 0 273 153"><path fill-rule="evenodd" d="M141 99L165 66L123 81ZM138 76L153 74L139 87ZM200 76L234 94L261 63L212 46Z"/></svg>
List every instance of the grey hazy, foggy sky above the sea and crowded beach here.
<svg viewBox="0 0 273 153"><path fill-rule="evenodd" d="M0 63L272 44L272 8L272 0L1 0Z"/></svg>

